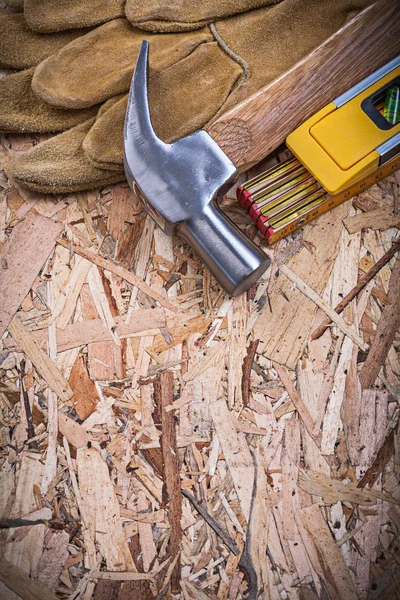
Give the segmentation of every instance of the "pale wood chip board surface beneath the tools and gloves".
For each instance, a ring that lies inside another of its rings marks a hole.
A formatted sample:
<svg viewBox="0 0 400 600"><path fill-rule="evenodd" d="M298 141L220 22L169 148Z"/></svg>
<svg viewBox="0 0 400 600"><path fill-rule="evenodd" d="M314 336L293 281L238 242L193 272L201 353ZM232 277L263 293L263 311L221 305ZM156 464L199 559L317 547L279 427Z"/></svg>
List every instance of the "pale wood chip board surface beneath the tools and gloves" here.
<svg viewBox="0 0 400 600"><path fill-rule="evenodd" d="M272 258L232 300L126 186L1 175L5 598L396 598L396 177L270 249L230 192Z"/></svg>

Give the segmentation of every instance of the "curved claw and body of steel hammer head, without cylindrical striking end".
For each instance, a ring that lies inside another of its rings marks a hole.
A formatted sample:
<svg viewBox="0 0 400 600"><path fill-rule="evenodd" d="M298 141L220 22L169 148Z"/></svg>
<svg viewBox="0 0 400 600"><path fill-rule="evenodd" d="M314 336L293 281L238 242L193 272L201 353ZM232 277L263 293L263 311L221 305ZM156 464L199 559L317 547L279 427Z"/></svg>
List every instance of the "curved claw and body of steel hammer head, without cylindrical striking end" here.
<svg viewBox="0 0 400 600"><path fill-rule="evenodd" d="M160 140L148 104L149 44L143 41L129 93L124 129L124 164L129 184L159 215L165 233L201 212L235 181L235 165L205 131L172 144ZM161 217L161 218L160 218Z"/></svg>

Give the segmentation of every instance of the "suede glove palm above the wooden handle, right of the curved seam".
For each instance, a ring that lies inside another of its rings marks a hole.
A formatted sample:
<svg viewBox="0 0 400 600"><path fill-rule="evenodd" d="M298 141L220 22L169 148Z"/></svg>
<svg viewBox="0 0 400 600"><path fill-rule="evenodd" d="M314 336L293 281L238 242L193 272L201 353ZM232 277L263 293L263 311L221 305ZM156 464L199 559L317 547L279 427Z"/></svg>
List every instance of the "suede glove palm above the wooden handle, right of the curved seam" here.
<svg viewBox="0 0 400 600"><path fill-rule="evenodd" d="M322 44L372 0L284 0L215 23L217 36L247 64L219 114L267 85Z"/></svg>

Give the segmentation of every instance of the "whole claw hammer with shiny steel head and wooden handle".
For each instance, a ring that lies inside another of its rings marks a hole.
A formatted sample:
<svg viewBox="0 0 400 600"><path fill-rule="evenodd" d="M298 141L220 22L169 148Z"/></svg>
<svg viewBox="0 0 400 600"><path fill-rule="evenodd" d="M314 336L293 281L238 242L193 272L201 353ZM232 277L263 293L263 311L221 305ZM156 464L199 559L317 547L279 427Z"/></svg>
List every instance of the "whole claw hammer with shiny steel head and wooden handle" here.
<svg viewBox="0 0 400 600"><path fill-rule="evenodd" d="M218 197L245 170L275 149L298 119L321 109L349 82L400 50L397 1L368 7L276 82L200 130L172 144L155 134L148 107L148 44L132 79L124 129L127 180L148 213L169 235L186 239L231 296L247 290L270 261L218 208ZM385 35L382 35L385 32ZM351 45L351 55L346 51ZM329 74L329 85L321 79ZM326 89L328 88L328 89ZM299 104L299 103L297 103ZM298 122L298 121L297 121ZM317 190L315 190L317 191Z"/></svg>

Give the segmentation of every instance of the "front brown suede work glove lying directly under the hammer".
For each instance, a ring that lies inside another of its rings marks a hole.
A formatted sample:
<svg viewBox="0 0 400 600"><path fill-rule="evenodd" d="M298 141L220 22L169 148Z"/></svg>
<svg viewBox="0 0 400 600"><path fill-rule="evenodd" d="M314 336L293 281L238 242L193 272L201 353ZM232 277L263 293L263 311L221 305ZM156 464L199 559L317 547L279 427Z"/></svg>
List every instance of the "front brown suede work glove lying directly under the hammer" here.
<svg viewBox="0 0 400 600"><path fill-rule="evenodd" d="M153 124L160 137L172 141L210 123L278 77L369 3L283 0L210 28L162 35L140 32L118 19L43 61L36 68L33 90L42 101L64 109L89 107L123 94L146 38ZM121 180L125 102L122 97L101 111L95 123L87 121L21 155L12 162L10 174L21 185L45 192L90 189L113 177ZM69 144L74 145L73 153L68 153Z"/></svg>

